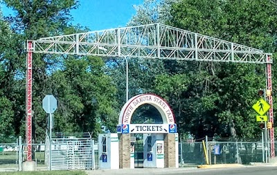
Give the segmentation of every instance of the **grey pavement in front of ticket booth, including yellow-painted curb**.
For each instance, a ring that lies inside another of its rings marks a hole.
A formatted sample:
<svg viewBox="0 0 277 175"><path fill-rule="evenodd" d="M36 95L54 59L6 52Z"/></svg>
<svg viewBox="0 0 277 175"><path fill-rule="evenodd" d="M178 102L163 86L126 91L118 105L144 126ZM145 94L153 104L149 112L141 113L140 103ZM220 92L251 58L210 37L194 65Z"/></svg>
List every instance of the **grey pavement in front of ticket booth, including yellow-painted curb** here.
<svg viewBox="0 0 277 175"><path fill-rule="evenodd" d="M260 164L260 165L240 165L240 164L218 164L218 165L202 165L198 167L179 167L179 168L136 168L136 169L99 169L86 171L88 175L156 175L156 174L201 174L201 175L261 175L276 174L276 164Z"/></svg>

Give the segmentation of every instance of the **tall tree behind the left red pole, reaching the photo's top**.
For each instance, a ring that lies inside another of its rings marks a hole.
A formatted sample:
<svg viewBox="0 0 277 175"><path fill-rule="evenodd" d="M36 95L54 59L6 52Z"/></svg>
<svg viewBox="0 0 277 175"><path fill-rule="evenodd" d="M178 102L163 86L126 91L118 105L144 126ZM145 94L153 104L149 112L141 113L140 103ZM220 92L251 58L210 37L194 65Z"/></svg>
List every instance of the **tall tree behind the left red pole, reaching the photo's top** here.
<svg viewBox="0 0 277 175"><path fill-rule="evenodd" d="M6 17L10 23L13 33L19 35L17 39L19 44L12 43L16 52L9 59L15 60L14 64L19 67L11 68L12 71L25 70L26 53L24 52L24 44L27 39L38 39L39 37L48 37L51 35L61 35L66 32L73 32L75 28L69 26L69 10L77 8L77 3L73 0L67 1L3 1L3 3L12 8L15 15ZM44 95L49 93L48 84L51 84L48 77L62 65L62 57L51 57L50 55L34 54L33 55L33 123L35 140L44 139L46 129L46 115L42 110L42 99ZM23 81L20 86L25 86L24 71L21 71ZM11 75L11 74L9 74ZM23 90L23 89L22 89ZM11 91L15 93L15 91ZM23 90L22 93L25 91ZM24 97L24 95L22 95ZM19 100L24 104L24 98ZM16 134L25 134L25 109L19 109L16 113L17 132ZM20 130L19 130L20 129Z"/></svg>

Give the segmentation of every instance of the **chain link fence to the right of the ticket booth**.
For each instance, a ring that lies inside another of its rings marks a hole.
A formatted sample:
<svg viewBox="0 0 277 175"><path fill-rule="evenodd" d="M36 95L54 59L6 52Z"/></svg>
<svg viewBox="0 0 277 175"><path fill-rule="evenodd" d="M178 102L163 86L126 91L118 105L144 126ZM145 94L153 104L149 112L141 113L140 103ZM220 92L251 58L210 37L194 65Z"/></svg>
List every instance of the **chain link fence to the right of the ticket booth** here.
<svg viewBox="0 0 277 175"><path fill-rule="evenodd" d="M277 142L275 142L275 149ZM204 151L206 149L206 152ZM268 152L267 152L268 151ZM200 142L189 140L179 142L180 165L204 165L240 163L265 163L269 160L269 149L265 148L265 142L260 139L215 140ZM268 156L268 157L266 157Z"/></svg>

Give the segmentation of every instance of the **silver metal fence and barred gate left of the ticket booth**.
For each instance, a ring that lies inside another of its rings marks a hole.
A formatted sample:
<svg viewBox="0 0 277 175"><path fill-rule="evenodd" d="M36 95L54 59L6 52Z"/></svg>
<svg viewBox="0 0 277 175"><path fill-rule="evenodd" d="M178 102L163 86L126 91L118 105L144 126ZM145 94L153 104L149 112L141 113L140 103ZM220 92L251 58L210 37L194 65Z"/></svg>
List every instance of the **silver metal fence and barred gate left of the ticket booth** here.
<svg viewBox="0 0 277 175"><path fill-rule="evenodd" d="M48 143L48 139L46 142L32 143L32 160L36 170L96 169L97 155L95 156L95 143L91 137L53 138L51 161ZM21 171L22 163L27 160L27 151L27 144L21 137L9 142L0 140L0 172Z"/></svg>

